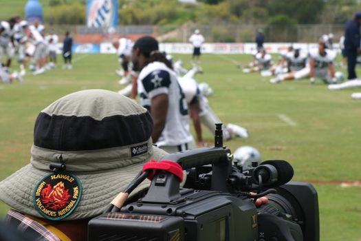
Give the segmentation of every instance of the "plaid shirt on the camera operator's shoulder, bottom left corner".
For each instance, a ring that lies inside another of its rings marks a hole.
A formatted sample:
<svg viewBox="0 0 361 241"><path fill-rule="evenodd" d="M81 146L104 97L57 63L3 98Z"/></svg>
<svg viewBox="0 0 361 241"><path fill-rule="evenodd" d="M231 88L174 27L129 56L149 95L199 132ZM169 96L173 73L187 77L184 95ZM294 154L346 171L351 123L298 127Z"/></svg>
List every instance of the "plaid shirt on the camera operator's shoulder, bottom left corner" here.
<svg viewBox="0 0 361 241"><path fill-rule="evenodd" d="M17 227L21 233L25 233L31 240L39 241L61 241L52 231L47 229L43 224L32 220L23 213L10 209L5 218L6 224Z"/></svg>

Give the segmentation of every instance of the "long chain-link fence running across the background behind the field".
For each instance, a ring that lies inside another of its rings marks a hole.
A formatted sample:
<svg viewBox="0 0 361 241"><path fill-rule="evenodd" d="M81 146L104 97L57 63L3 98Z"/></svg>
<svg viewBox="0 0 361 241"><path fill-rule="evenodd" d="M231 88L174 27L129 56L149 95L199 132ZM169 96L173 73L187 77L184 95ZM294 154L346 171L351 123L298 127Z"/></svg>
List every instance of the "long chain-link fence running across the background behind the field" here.
<svg viewBox="0 0 361 241"><path fill-rule="evenodd" d="M73 36L86 34L102 35L101 41L109 41L109 29L87 28L84 25L47 25L47 30L55 30L59 36L70 31ZM111 34L124 36L129 34L153 34L162 42L186 43L195 29L199 29L207 43L245 43L253 42L256 32L262 29L265 34L265 42L272 43L314 43L322 34L333 33L333 41L336 43L344 34L343 25L244 25L244 24L219 24L219 25L128 25L118 26L111 30Z"/></svg>

